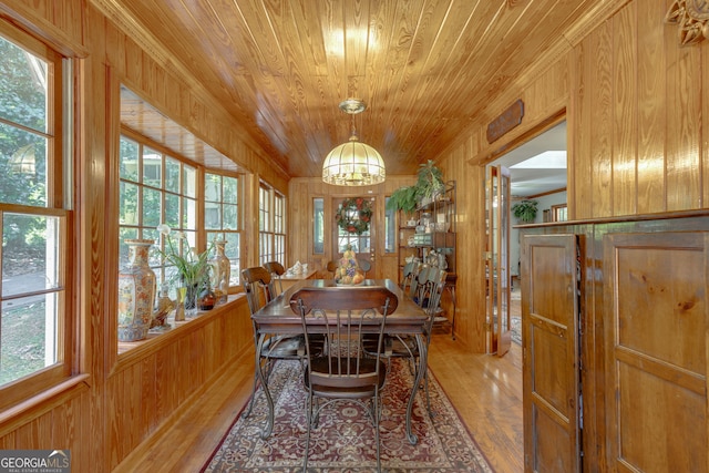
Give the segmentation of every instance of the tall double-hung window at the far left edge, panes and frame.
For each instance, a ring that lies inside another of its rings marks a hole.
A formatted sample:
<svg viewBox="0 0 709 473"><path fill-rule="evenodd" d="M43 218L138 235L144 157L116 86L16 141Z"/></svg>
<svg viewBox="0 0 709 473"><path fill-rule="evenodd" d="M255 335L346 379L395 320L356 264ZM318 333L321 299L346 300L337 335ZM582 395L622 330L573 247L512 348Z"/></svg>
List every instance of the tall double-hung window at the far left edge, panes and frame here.
<svg viewBox="0 0 709 473"><path fill-rule="evenodd" d="M71 60L0 23L0 409L75 364L71 90Z"/></svg>

